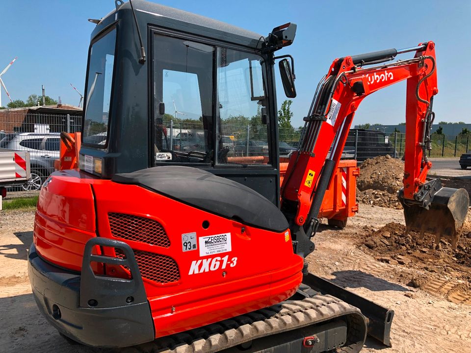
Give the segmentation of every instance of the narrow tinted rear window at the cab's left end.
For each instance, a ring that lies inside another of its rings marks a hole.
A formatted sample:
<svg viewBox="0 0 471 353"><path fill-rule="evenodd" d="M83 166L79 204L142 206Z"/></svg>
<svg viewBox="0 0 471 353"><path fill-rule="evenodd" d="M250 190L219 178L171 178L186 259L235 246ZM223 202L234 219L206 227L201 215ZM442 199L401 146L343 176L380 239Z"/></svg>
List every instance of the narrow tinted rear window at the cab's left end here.
<svg viewBox="0 0 471 353"><path fill-rule="evenodd" d="M87 76L83 142L104 147L113 81L116 28L92 44Z"/></svg>

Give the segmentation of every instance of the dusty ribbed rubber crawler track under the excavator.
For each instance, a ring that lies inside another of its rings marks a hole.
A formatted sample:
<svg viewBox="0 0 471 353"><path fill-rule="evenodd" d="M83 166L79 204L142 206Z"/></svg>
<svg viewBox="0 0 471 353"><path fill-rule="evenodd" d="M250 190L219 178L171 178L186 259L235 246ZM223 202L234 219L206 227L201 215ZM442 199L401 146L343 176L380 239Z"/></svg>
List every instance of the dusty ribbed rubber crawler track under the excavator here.
<svg viewBox="0 0 471 353"><path fill-rule="evenodd" d="M330 295L287 301L202 328L158 338L122 352L215 353L244 342L342 317L347 341L341 352L360 352L366 339L366 320L360 310Z"/></svg>

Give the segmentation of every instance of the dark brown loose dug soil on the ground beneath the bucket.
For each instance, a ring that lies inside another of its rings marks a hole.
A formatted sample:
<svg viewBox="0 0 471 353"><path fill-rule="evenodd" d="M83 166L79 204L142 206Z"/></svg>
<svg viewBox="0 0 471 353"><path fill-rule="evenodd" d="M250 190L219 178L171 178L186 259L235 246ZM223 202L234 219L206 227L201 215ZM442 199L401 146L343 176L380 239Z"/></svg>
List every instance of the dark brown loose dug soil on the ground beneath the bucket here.
<svg viewBox="0 0 471 353"><path fill-rule="evenodd" d="M441 295L453 303L471 305L470 222L466 221L461 229L456 250L451 249L446 239L440 241L440 249L435 249L432 234L425 234L420 242L418 233L408 236L404 233L405 226L397 222L379 229L365 226L366 236L359 234L357 244L378 261L420 271L418 275L396 276L402 283Z"/></svg>

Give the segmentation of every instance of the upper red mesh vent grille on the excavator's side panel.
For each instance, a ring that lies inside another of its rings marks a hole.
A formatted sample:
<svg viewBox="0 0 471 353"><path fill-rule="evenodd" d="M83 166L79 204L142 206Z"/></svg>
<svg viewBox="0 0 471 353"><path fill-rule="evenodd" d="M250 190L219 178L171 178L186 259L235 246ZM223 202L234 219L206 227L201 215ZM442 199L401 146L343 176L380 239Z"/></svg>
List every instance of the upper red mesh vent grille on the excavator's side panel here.
<svg viewBox="0 0 471 353"><path fill-rule="evenodd" d="M168 239L165 229L157 221L113 212L108 213L108 221L111 235L115 238L133 240L164 248L170 246L170 239Z"/></svg>

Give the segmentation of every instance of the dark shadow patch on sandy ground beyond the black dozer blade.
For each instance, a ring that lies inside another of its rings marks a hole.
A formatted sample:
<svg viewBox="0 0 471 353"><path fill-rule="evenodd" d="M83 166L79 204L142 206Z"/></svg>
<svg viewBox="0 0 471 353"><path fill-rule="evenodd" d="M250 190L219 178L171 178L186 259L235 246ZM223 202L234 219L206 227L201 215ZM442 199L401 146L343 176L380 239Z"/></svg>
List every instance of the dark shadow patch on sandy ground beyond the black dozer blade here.
<svg viewBox="0 0 471 353"><path fill-rule="evenodd" d="M363 271L336 271L332 273L332 276L335 276L335 278L329 280L341 287L366 288L374 292L387 290L409 292L409 289L399 284L389 282L383 278L375 277Z"/></svg>

